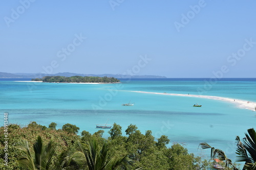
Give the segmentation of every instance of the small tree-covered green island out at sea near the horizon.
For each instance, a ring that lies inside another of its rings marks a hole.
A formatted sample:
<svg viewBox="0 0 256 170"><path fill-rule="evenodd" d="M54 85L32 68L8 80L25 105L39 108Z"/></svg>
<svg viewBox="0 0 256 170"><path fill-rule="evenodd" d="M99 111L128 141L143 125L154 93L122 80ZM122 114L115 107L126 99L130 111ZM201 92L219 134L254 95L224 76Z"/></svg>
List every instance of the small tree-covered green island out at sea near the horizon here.
<svg viewBox="0 0 256 170"><path fill-rule="evenodd" d="M49 83L119 83L120 80L114 77L82 77L82 76L45 76L43 78L32 79L31 81L42 81Z"/></svg>

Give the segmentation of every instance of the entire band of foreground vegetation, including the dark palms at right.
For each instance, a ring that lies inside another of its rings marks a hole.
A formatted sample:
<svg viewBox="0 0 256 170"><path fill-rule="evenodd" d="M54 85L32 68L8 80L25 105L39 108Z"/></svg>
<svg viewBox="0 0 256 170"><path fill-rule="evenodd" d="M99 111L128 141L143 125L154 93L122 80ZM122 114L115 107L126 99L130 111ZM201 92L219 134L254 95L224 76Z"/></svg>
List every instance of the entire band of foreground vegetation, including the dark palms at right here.
<svg viewBox="0 0 256 170"><path fill-rule="evenodd" d="M167 136L155 139L152 131L141 133L136 125L129 125L122 135L122 127L114 123L108 131L109 137L103 138L103 130L94 134L79 127L65 124L56 129L57 124L48 127L32 122L27 126L11 124L8 126L8 140L0 136L0 169L239 169L220 149L200 143L202 149L209 149L208 160L189 154L183 144L173 143L169 148ZM5 132L7 127L1 127ZM244 169L255 169L256 140L254 129L248 129L247 140L239 136L237 152L239 161L245 161ZM7 154L6 154L7 153ZM218 159L218 161L216 161Z"/></svg>

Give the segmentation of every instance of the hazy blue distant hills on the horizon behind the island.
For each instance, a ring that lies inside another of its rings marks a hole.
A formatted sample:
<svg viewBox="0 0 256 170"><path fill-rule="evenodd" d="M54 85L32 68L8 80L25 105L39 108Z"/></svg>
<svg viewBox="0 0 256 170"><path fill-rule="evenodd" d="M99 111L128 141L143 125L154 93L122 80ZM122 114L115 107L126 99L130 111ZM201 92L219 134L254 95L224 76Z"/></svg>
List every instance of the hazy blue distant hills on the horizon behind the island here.
<svg viewBox="0 0 256 170"><path fill-rule="evenodd" d="M152 75L144 75L144 76L130 76L130 75L112 75L112 74L103 74L103 75L93 75L93 74L76 74L72 72L59 72L57 74L40 74L40 73L15 73L11 74L8 72L0 72L0 78L42 78L44 76L65 76L65 77L72 77L72 76L95 76L95 77L114 77L117 79L120 78L140 78L140 79L146 79L146 78L166 78L165 76L152 76Z"/></svg>

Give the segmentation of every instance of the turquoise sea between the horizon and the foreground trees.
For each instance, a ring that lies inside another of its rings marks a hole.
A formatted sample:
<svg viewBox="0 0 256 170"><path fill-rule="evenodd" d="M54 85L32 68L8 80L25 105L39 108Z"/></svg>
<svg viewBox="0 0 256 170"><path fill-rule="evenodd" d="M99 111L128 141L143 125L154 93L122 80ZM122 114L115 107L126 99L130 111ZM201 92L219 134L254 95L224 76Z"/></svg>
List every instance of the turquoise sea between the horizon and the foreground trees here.
<svg viewBox="0 0 256 170"><path fill-rule="evenodd" d="M256 79L121 79L120 84L67 84L16 82L30 79L0 79L0 111L9 113L9 123L26 126L32 121L48 125L74 124L94 133L96 124L117 123L123 135L130 124L155 138L166 135L168 147L183 143L189 153L209 155L198 145L207 142L223 150L233 161L236 158L237 135L244 137L255 127L256 117L248 109L233 103L193 98L147 94L147 91L178 94L222 96L256 102ZM123 103L134 106L121 106ZM203 105L193 107L194 104ZM104 137L108 137L105 130Z"/></svg>

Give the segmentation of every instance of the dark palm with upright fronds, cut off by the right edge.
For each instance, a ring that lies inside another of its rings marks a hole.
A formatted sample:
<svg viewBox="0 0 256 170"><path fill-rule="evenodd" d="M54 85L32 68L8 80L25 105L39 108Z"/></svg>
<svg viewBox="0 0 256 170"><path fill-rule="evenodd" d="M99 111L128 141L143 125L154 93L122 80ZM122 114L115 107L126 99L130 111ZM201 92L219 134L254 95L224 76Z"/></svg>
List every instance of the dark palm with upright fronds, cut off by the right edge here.
<svg viewBox="0 0 256 170"><path fill-rule="evenodd" d="M247 130L243 141L237 136L237 158L239 162L244 162L243 169L256 169L256 132L253 128Z"/></svg>

